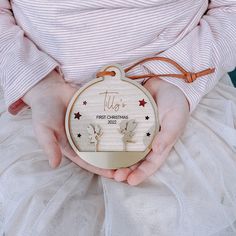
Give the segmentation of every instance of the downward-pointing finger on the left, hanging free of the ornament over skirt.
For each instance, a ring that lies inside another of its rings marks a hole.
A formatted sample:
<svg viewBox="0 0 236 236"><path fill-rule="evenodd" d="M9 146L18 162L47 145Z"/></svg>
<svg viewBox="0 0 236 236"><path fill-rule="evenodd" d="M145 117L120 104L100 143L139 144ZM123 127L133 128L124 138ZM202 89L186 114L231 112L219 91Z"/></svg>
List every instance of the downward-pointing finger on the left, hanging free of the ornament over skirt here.
<svg viewBox="0 0 236 236"><path fill-rule="evenodd" d="M38 142L48 157L52 168L57 167L61 162L61 150L52 129L38 125L35 127Z"/></svg>

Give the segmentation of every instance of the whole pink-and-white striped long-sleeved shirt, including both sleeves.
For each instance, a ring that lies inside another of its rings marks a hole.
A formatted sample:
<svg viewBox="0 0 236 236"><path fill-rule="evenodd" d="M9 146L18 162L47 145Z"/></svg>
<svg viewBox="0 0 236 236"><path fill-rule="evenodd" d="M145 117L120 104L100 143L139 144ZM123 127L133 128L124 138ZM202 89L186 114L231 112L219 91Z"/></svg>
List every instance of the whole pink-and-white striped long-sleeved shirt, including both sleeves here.
<svg viewBox="0 0 236 236"><path fill-rule="evenodd" d="M9 106L53 69L83 84L104 65L159 54L216 72L178 86L193 111L236 65L236 0L0 0L0 85ZM132 74L178 73L153 61Z"/></svg>

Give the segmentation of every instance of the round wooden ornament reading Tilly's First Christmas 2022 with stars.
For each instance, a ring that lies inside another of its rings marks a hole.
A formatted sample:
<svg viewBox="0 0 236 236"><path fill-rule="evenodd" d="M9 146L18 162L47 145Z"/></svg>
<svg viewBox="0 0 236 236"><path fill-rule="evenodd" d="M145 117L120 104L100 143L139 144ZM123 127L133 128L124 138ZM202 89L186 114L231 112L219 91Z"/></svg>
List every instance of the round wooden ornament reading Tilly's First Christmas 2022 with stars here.
<svg viewBox="0 0 236 236"><path fill-rule="evenodd" d="M96 167L118 169L142 160L158 131L157 106L139 83L114 72L80 88L71 99L65 119L66 134L76 154Z"/></svg>

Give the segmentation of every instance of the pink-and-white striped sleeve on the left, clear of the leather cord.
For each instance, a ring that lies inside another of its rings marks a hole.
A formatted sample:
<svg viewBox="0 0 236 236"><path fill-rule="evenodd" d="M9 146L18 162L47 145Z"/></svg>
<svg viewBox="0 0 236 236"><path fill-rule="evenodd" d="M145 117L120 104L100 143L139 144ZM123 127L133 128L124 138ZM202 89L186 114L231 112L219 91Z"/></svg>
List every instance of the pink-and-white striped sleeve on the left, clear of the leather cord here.
<svg viewBox="0 0 236 236"><path fill-rule="evenodd" d="M16 25L6 0L0 0L0 52L0 86L8 107L16 107L31 87L58 66Z"/></svg>

